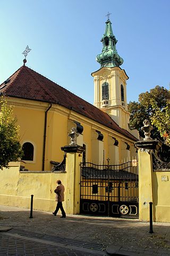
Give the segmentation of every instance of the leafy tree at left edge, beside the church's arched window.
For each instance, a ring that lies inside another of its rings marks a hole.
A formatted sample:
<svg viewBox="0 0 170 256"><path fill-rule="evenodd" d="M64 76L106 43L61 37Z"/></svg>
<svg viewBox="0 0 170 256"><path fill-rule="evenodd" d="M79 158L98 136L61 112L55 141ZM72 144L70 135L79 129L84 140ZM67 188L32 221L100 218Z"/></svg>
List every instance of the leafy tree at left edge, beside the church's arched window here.
<svg viewBox="0 0 170 256"><path fill-rule="evenodd" d="M0 98L0 169L8 163L22 157L22 146L19 142L19 126L13 117L13 106L7 105L4 97Z"/></svg>

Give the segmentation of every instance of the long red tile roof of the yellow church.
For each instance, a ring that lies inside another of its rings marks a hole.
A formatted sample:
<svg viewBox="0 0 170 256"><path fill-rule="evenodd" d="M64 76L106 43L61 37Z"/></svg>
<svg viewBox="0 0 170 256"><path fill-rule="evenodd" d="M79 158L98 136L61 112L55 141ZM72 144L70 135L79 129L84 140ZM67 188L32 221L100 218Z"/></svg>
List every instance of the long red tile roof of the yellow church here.
<svg viewBox="0 0 170 256"><path fill-rule="evenodd" d="M118 126L108 114L27 66L19 68L1 84L0 92L9 97L57 103L137 141L132 134Z"/></svg>

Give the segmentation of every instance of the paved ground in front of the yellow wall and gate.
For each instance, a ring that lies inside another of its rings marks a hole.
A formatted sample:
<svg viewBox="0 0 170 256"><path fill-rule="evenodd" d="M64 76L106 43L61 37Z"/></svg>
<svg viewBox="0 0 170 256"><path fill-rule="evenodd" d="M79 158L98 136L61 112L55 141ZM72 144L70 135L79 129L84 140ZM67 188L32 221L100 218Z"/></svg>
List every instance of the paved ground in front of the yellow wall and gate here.
<svg viewBox="0 0 170 256"><path fill-rule="evenodd" d="M0 255L170 255L170 223L30 211L0 205ZM108 254L110 253L110 254ZM115 254L114 254L115 253Z"/></svg>

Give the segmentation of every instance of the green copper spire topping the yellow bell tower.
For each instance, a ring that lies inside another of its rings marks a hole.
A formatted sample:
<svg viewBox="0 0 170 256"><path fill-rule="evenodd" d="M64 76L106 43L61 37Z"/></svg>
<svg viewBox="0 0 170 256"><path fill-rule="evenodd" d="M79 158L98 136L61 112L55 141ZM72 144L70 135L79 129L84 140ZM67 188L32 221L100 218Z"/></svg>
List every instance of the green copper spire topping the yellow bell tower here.
<svg viewBox="0 0 170 256"><path fill-rule="evenodd" d="M111 68L121 66L123 59L116 51L117 40L113 35L112 23L109 19L106 21L105 34L101 38L101 42L103 43L103 50L96 58L101 67Z"/></svg>

